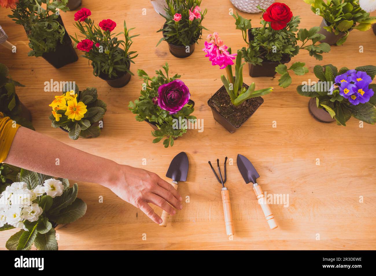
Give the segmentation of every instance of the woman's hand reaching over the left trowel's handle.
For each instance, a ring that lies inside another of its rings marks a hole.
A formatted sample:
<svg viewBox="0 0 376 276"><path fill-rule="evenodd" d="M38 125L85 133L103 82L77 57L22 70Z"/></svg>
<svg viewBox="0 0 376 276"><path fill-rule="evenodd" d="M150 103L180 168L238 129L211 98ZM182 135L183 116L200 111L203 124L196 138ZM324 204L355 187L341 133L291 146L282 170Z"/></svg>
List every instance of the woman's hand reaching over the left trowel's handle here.
<svg viewBox="0 0 376 276"><path fill-rule="evenodd" d="M117 177L110 180L106 187L124 201L140 208L153 222L159 224L162 223L162 219L148 203L161 207L170 215L176 214L173 207L178 210L183 208L180 203L182 197L177 190L155 173L118 165L116 174Z"/></svg>

